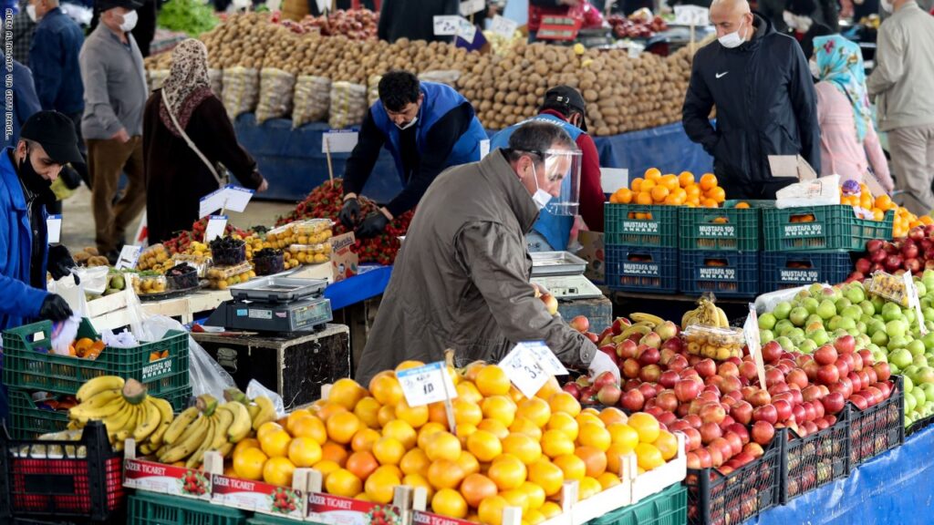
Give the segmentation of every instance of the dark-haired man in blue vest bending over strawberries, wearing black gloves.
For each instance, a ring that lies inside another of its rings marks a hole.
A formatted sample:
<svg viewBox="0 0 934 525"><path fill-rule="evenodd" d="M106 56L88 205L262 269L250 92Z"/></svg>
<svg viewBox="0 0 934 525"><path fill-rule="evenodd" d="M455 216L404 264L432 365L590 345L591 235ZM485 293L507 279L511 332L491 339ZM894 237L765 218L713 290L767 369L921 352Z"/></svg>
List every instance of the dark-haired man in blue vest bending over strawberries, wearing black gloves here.
<svg viewBox="0 0 934 525"><path fill-rule="evenodd" d="M487 133L474 115L474 106L459 92L444 84L419 82L408 71L387 73L379 81L379 102L370 107L347 160L341 222L353 228L361 220L357 195L383 146L395 160L403 191L363 218L358 237L382 233L389 220L417 206L446 168L479 161L483 140Z"/></svg>

